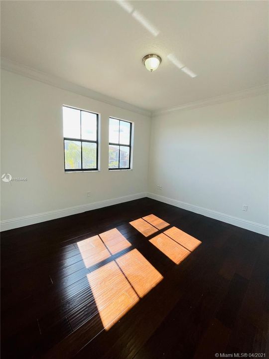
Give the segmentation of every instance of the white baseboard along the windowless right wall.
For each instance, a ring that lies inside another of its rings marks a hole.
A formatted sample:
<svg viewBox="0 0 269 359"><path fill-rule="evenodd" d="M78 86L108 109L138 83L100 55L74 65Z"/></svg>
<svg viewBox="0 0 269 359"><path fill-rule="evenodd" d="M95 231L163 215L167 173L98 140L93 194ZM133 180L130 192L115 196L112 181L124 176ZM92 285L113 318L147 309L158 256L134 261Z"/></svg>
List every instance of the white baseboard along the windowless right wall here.
<svg viewBox="0 0 269 359"><path fill-rule="evenodd" d="M161 196L161 195L158 195L155 193L148 192L147 197L156 199L160 202L174 205L179 208L187 209L189 211L192 211L192 212L195 212L198 214L202 214L204 216L207 216L207 217L210 217L213 219L218 219L222 222L233 224L235 226L245 228L245 229L251 230L253 232L257 232L257 233L264 234L267 236L269 235L269 226L264 225L264 224L251 222L251 221L248 221L248 220L245 220L242 218L238 218L238 217L233 217L229 214L225 214L225 213L217 212L217 211L214 211L211 209L199 207L194 204L190 204L190 203L182 202L182 201L179 201L176 199L164 197L164 196Z"/></svg>

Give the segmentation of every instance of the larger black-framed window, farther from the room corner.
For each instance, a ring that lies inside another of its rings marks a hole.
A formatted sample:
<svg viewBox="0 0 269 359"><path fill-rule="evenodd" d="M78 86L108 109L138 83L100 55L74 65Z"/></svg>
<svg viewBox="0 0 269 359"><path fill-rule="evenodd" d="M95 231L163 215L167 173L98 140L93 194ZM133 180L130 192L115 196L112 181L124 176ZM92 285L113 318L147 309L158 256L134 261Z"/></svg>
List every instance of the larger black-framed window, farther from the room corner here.
<svg viewBox="0 0 269 359"><path fill-rule="evenodd" d="M98 115L63 106L64 170L98 170Z"/></svg>

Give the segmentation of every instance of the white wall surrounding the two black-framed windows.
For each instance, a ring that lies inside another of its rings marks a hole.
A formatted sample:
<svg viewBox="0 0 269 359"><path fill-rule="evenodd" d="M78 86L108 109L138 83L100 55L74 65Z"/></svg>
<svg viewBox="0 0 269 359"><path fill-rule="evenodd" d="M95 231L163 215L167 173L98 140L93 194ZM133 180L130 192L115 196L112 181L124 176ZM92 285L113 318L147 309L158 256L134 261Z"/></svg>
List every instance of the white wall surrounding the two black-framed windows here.
<svg viewBox="0 0 269 359"><path fill-rule="evenodd" d="M101 171L65 173L62 105L101 114ZM134 122L132 171L108 171L109 117ZM147 190L150 118L8 71L1 71L1 174L28 178L1 181L1 220L85 205ZM87 197L87 192L91 196ZM127 199L132 199L128 197ZM113 202L108 202L113 204ZM83 207L77 212L91 209ZM53 217L73 213L67 211ZM9 221L2 230L40 220Z"/></svg>

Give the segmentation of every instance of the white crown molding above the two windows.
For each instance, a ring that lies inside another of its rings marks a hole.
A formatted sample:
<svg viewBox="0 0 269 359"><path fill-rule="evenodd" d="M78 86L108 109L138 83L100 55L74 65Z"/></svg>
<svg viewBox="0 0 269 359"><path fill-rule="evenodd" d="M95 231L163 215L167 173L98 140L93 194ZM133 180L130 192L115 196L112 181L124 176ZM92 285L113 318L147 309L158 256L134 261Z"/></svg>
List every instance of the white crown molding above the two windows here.
<svg viewBox="0 0 269 359"><path fill-rule="evenodd" d="M127 102L115 99L113 97L103 95L100 92L90 90L86 87L76 85L76 84L69 82L67 80L64 80L60 77L48 75L44 72L35 70L35 69L30 68L25 65L21 65L17 62L8 60L4 57L1 57L0 65L1 65L1 69L3 69L3 70L14 72L18 75L26 76L33 80L37 80L37 81L46 83L48 85L51 85L51 86L54 86L54 87L57 87L57 88L60 88L63 90L67 90L67 91L76 93L78 95L89 97L93 100L101 101L101 102L104 102L104 103L112 105L112 106L117 106L124 110L136 112L140 115L149 116L149 117L151 116L151 111L131 105Z"/></svg>

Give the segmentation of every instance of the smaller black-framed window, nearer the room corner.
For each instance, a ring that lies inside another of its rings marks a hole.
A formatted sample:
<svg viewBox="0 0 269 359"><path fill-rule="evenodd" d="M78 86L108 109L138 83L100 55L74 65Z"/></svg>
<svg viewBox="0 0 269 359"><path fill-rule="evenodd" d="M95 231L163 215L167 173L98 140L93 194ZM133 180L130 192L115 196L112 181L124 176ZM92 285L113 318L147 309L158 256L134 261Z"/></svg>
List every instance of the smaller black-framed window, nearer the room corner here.
<svg viewBox="0 0 269 359"><path fill-rule="evenodd" d="M109 119L109 170L130 170L132 123Z"/></svg>

